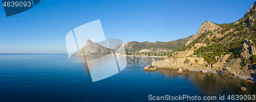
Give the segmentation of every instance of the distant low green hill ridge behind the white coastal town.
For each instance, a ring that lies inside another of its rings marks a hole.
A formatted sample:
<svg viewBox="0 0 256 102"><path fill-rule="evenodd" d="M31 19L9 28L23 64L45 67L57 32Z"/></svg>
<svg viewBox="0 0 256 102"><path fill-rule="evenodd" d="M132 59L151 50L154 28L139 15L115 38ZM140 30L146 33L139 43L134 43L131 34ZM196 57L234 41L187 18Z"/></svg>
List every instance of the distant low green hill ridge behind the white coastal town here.
<svg viewBox="0 0 256 102"><path fill-rule="evenodd" d="M124 43L124 48L125 49L167 48L167 49L175 50L179 47L184 46L185 43L191 37L192 36L189 36L187 38L178 39L178 40L169 41L169 42L156 41L156 42L152 43L152 42L148 42L148 41L144 41L144 42L132 41L132 42Z"/></svg>

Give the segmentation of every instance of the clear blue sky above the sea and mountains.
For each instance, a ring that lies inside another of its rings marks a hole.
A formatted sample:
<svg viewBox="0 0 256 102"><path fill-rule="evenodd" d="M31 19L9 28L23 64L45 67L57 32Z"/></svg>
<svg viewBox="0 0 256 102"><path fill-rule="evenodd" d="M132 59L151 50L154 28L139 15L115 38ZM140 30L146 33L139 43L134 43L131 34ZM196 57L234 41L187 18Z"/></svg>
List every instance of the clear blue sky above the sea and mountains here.
<svg viewBox="0 0 256 102"><path fill-rule="evenodd" d="M2 2L1 2L2 3ZM231 23L254 1L50 1L6 17L0 7L0 54L67 53L66 35L100 19L106 39L173 41L197 33L207 20Z"/></svg>

